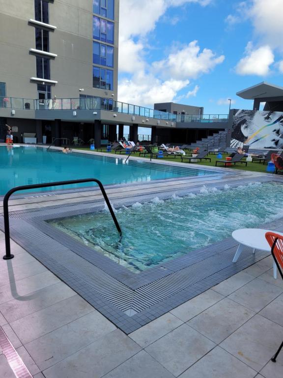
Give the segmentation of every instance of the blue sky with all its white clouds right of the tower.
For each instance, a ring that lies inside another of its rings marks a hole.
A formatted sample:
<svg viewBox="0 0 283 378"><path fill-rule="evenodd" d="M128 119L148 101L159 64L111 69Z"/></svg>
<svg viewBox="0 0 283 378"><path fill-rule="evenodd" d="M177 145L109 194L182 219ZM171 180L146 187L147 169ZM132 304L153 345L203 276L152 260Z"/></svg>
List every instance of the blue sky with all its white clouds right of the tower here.
<svg viewBox="0 0 283 378"><path fill-rule="evenodd" d="M251 109L236 92L283 86L283 0L120 0L118 99Z"/></svg>

